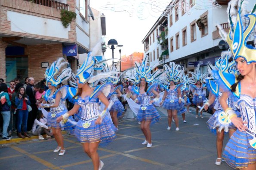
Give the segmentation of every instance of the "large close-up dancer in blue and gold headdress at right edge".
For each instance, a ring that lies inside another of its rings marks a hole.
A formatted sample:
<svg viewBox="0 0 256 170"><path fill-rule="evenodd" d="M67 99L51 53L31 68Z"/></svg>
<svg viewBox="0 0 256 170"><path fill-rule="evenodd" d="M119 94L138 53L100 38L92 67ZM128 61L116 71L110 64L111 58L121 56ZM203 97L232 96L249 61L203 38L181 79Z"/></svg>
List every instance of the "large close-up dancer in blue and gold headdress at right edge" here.
<svg viewBox="0 0 256 170"><path fill-rule="evenodd" d="M247 45L250 36L255 39L255 34L250 33L256 25L256 5L251 13L243 16L241 14L247 13L243 3L244 1L232 0L228 4L231 29L225 37L239 71L236 73L238 76L228 70L232 66L228 63L228 58L216 63L223 86L231 89L232 95L237 98L241 118L226 103L230 95L228 92L223 93L219 100L225 110L219 117L223 124L232 121L237 127L223 152L226 163L236 169L256 170L256 48ZM235 15L237 9L238 13ZM245 23L247 24L244 25Z"/></svg>

